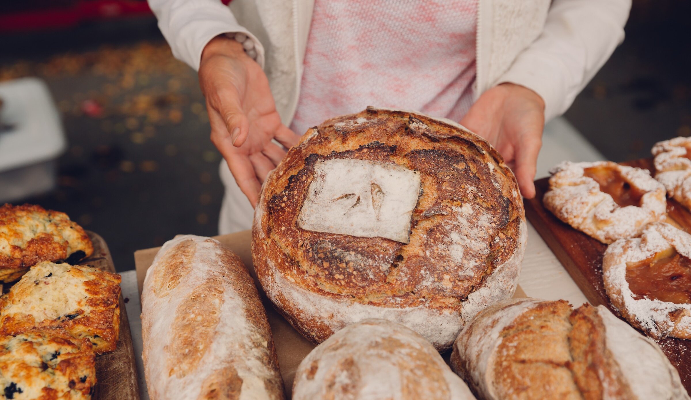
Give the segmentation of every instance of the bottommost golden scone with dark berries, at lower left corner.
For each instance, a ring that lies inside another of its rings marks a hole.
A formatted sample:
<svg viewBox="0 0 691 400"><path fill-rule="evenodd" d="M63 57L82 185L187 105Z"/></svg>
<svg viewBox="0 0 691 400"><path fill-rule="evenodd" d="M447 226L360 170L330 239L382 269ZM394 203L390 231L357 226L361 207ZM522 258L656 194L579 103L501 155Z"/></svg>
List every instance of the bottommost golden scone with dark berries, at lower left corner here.
<svg viewBox="0 0 691 400"><path fill-rule="evenodd" d="M3 399L91 399L95 355L87 338L63 329L0 336L0 394Z"/></svg>

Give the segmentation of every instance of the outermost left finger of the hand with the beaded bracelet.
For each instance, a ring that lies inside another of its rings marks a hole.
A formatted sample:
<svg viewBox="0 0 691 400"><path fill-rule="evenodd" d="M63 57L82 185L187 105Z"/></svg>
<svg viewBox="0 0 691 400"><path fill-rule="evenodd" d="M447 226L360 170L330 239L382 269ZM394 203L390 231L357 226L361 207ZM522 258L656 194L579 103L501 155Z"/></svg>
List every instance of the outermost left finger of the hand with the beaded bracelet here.
<svg viewBox="0 0 691 400"><path fill-rule="evenodd" d="M230 136L226 135L220 138L220 140L214 140L213 132L225 130L225 127L218 113L209 113L209 116L209 123L211 124L212 131L211 137L214 141L214 145L216 145L216 148L218 148L218 151L223 155L226 163L228 163L228 168L231 174L233 174L235 181L238 183L240 190L247 196L252 206L256 207L259 198L259 190L261 190L261 183L256 177L252 162L249 161L249 157L246 154L241 153L238 151L237 147L233 146Z"/></svg>

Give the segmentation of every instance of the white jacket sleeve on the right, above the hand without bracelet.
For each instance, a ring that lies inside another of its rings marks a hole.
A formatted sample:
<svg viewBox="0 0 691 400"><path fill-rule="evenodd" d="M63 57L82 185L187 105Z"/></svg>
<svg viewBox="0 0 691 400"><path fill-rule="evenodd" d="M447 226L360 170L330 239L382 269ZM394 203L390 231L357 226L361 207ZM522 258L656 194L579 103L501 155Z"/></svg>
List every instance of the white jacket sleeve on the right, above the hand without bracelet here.
<svg viewBox="0 0 691 400"><path fill-rule="evenodd" d="M497 83L545 100L545 119L564 113L624 39L631 0L554 0L545 29Z"/></svg>

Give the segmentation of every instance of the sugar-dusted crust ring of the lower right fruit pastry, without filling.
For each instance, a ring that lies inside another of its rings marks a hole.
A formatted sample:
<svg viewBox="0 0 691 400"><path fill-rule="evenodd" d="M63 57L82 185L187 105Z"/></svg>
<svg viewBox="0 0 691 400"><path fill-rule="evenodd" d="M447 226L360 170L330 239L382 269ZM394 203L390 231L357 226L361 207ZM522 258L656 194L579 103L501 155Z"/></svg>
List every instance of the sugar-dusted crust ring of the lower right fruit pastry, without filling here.
<svg viewBox="0 0 691 400"><path fill-rule="evenodd" d="M603 257L603 282L612 305L634 327L655 339L691 339L691 304L639 298L626 280L627 264L642 262L672 247L691 258L691 235L664 222L648 225L641 237L610 244Z"/></svg>

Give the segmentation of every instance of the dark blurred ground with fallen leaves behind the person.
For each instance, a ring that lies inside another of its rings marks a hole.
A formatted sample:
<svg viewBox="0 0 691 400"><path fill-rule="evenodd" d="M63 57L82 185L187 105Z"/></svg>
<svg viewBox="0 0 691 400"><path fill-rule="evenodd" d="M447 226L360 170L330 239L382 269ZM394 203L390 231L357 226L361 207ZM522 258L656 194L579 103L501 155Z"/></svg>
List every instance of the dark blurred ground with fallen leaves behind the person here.
<svg viewBox="0 0 691 400"><path fill-rule="evenodd" d="M605 157L691 136L689 15L691 0L634 0L623 45L566 113ZM3 99L0 201L66 212L118 271L176 234L217 234L204 98L145 1L0 2Z"/></svg>

